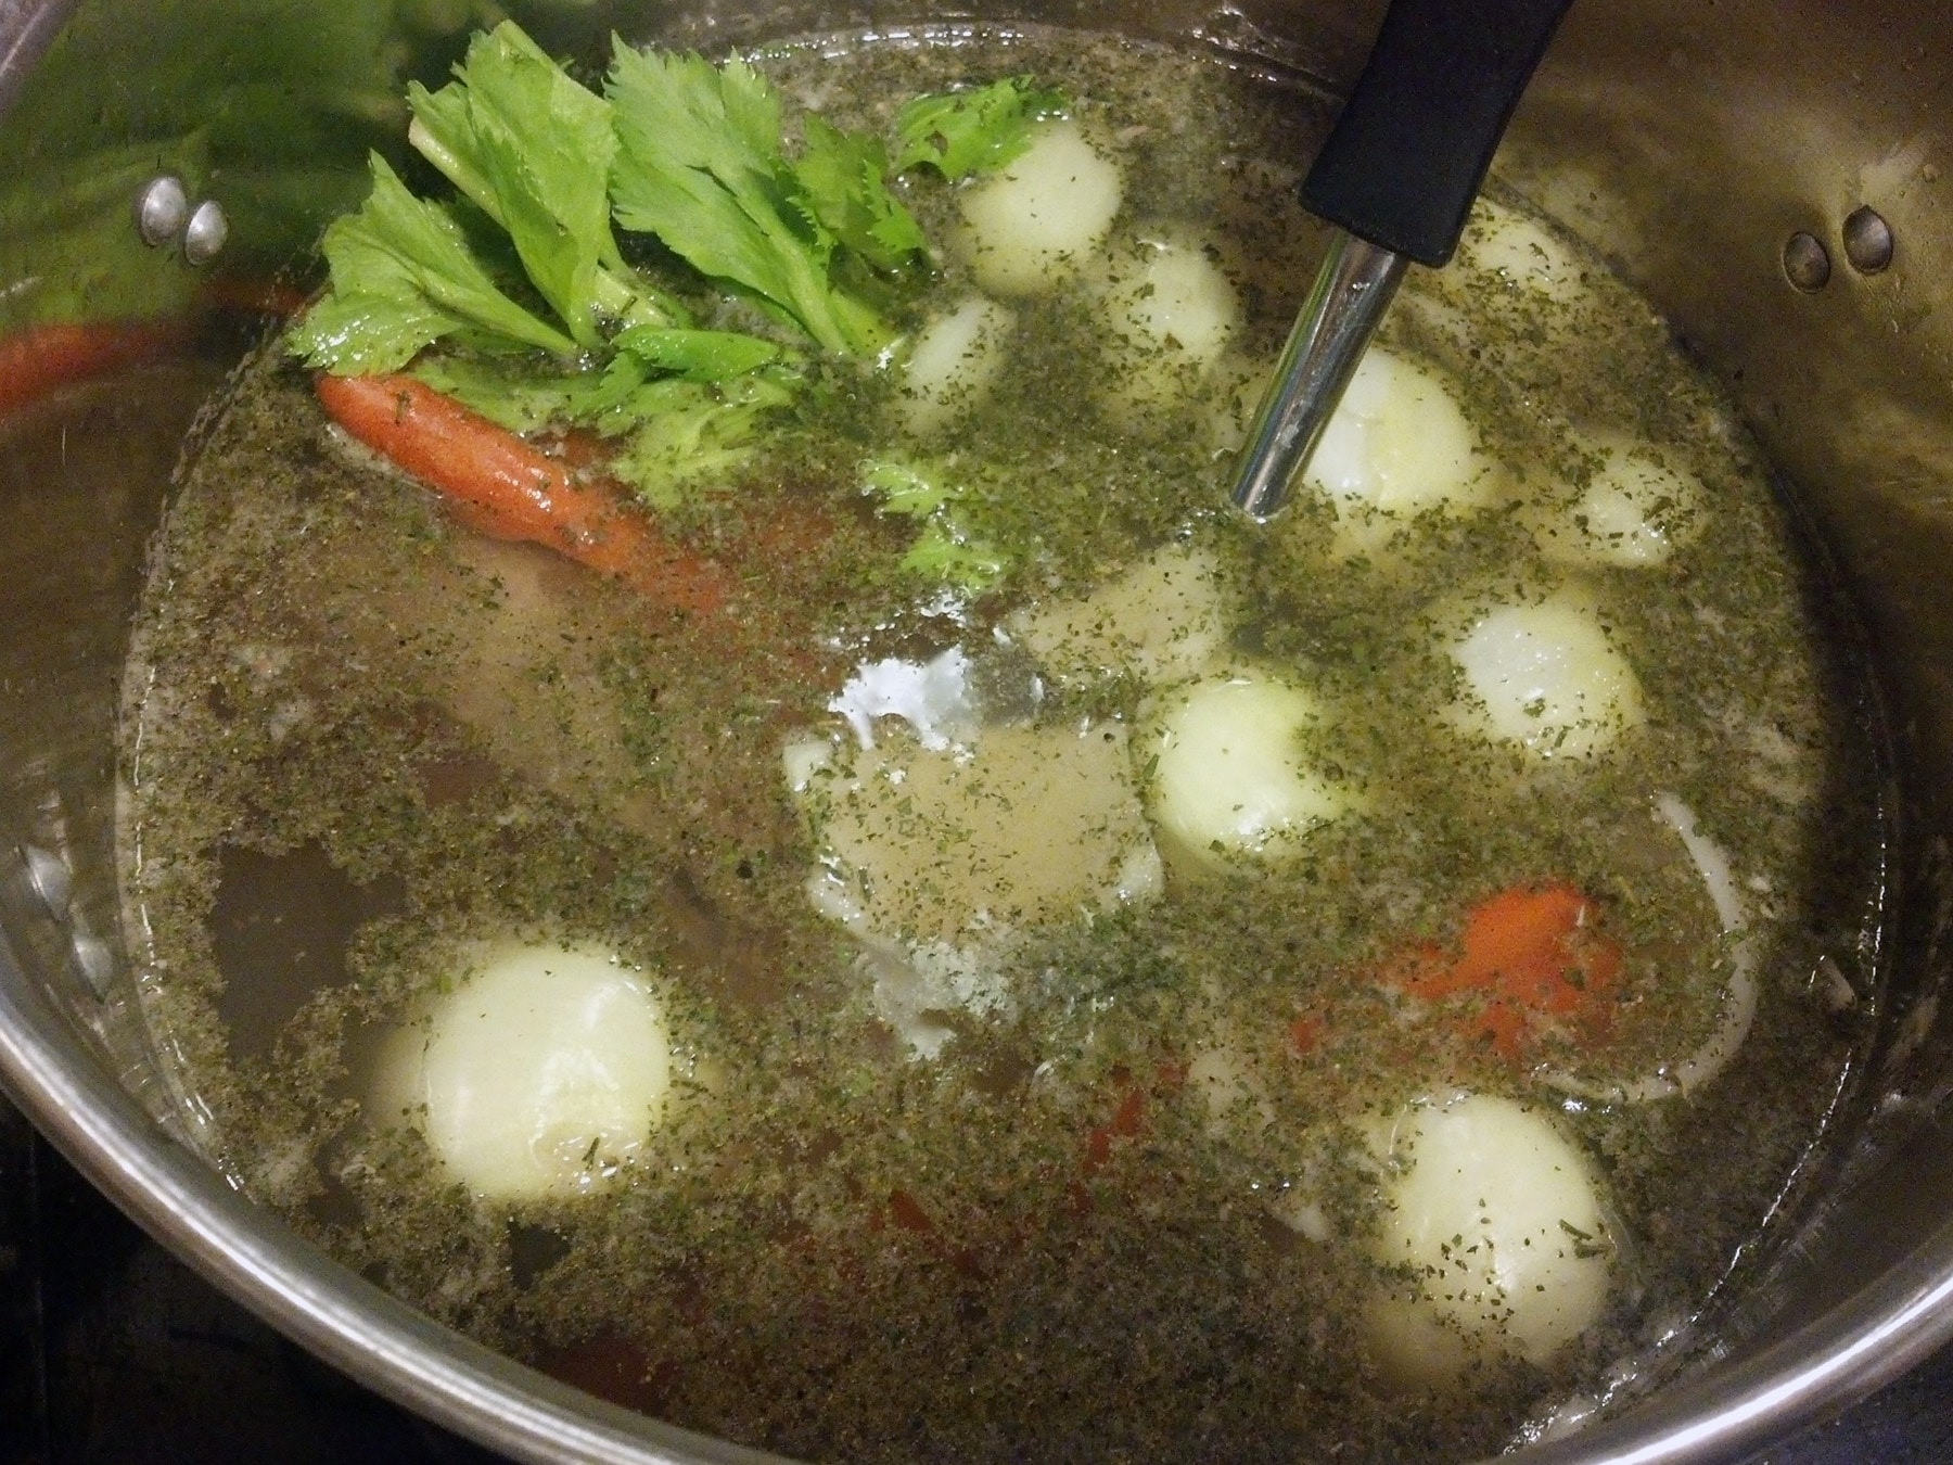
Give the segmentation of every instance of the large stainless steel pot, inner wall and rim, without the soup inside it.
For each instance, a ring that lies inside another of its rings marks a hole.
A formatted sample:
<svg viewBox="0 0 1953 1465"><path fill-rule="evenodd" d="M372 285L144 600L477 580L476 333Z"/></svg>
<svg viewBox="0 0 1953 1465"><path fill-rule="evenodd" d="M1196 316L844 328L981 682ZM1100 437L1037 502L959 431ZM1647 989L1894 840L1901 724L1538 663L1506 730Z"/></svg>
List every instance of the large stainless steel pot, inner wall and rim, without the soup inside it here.
<svg viewBox="0 0 1953 1465"><path fill-rule="evenodd" d="M723 49L816 21L891 29L920 10L660 8L658 25ZM976 12L1197 35L1334 88L1381 6ZM0 0L0 105L12 104L0 186L53 195L55 182L100 180L86 217L0 236L0 338L61 289L84 289L102 314L125 295L184 305L227 270L264 277L303 252L357 189L363 146L389 133L396 74L437 68L469 14L459 0L340 0L330 18L305 0ZM613 21L641 29L570 0L523 18L564 45ZM1586 0L1502 156L1730 385L1855 596L1896 742L1887 1037L1855 1139L1752 1277L1726 1346L1635 1408L1535 1445L1541 1465L1736 1459L1953 1336L1949 31L1937 6L1908 0ZM180 256L207 254L209 213L201 242L184 232L189 209L162 207L170 197L131 219L135 182L164 174L184 182L186 205L227 215L230 242L203 275ZM145 246L143 229L160 244ZM59 451L0 469L0 1084L217 1285L430 1418L523 1459L758 1459L428 1322L230 1192L184 1143L193 1108L168 1090L121 959L111 807L145 539L215 381L211 342L199 346L148 371L141 393L72 398L61 410L76 432L45 438Z"/></svg>

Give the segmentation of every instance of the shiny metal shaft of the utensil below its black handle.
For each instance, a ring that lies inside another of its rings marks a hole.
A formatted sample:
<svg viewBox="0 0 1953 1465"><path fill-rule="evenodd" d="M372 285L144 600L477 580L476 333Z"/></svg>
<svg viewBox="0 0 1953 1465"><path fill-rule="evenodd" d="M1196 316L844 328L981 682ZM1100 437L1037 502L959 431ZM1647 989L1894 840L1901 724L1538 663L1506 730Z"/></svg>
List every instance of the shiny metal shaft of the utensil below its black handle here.
<svg viewBox="0 0 1953 1465"><path fill-rule="evenodd" d="M1334 232L1234 463L1228 496L1252 518L1271 518L1309 467L1406 264L1346 229Z"/></svg>

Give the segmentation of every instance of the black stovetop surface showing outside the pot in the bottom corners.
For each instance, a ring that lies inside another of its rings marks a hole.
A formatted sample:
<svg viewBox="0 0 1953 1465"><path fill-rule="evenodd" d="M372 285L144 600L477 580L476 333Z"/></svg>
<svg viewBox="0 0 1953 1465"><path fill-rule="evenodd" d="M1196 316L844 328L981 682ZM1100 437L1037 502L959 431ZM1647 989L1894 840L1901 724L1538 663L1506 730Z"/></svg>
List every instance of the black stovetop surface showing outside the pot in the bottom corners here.
<svg viewBox="0 0 1953 1465"><path fill-rule="evenodd" d="M0 1465L496 1465L318 1363L0 1102ZM1953 1348L1752 1465L1947 1465Z"/></svg>

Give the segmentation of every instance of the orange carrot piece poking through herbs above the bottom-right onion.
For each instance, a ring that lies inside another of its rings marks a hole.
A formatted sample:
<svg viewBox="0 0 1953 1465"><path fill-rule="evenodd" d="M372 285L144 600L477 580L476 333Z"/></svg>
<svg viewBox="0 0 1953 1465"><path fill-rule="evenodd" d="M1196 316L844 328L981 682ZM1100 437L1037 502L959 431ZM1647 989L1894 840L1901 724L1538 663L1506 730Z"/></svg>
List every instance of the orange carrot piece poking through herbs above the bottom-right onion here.
<svg viewBox="0 0 1953 1465"><path fill-rule="evenodd" d="M1465 1031L1517 1061L1555 1029L1596 1039L1621 973L1621 947L1601 936L1598 906L1553 881L1512 887L1473 906L1457 953L1422 945L1385 969L1385 979L1424 1002L1478 998Z"/></svg>

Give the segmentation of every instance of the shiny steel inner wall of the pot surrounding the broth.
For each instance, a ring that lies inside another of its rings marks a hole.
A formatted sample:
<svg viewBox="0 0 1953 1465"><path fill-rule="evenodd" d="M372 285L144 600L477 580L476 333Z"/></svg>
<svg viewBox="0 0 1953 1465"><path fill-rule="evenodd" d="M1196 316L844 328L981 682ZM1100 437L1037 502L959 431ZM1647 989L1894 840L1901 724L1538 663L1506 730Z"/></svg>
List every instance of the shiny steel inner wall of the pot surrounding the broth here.
<svg viewBox="0 0 1953 1465"><path fill-rule="evenodd" d="M0 137L18 180L100 170L100 207L0 238L0 336L62 289L105 314L182 311L207 307L225 281L303 270L322 219L357 197L365 148L398 131L396 74L437 76L465 10L82 6ZM1121 10L1060 4L1037 16L1131 21ZM1334 14L1135 10L1148 33L1197 33L1330 88L1353 74L1381 14L1367 0ZM523 20L582 47L613 23L641 31L627 12L537 8ZM906 16L728 6L662 12L662 23L719 51L816 23L894 31ZM1953 1262L1937 1221L1953 1215L1953 1135L1939 1119L1953 1072L1953 1014L1939 1018L1953 893L1953 209L1941 195L1953 156L1947 121L1933 115L1953 78L1933 70L1945 64L1928 51L1935 23L1932 8L1898 0L1849 14L1822 0L1732 0L1713 12L1682 0L1580 6L1502 156L1506 178L1615 262L1730 385L1851 590L1894 731L1898 924L1863 1137L1836 1162L1838 1199L1746 1309L1750 1342L1730 1361L1920 1248L1930 1264ZM123 172L104 162L111 154ZM215 268L195 272L135 242L131 189L158 170L230 213L234 242ZM1877 273L1855 270L1844 244L1844 221L1859 207L1896 240ZM1812 293L1783 268L1801 230L1832 262ZM1295 281L1297 295L1305 283ZM119 955L113 699L176 443L240 348L234 318L193 334L170 363L29 418L0 467L0 850L18 852L0 858L0 924L98 1061L158 1117L189 1129L193 1109L158 1082ZM51 891L49 858L66 865L72 889ZM1943 1330L1922 1326L1918 1338ZM1875 1373L1867 1365L1848 1387Z"/></svg>

